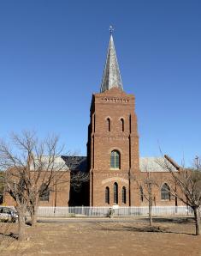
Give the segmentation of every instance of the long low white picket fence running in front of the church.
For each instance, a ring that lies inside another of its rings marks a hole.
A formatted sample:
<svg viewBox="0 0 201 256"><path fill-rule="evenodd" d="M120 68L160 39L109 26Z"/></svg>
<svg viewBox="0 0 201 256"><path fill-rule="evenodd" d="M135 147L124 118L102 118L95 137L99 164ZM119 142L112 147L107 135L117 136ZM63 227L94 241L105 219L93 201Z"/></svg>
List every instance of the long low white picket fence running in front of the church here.
<svg viewBox="0 0 201 256"><path fill-rule="evenodd" d="M44 207L38 209L38 216L109 216L110 207ZM119 207L114 209L114 216L148 216L148 207ZM192 216L192 208L186 206L153 206L153 216Z"/></svg>

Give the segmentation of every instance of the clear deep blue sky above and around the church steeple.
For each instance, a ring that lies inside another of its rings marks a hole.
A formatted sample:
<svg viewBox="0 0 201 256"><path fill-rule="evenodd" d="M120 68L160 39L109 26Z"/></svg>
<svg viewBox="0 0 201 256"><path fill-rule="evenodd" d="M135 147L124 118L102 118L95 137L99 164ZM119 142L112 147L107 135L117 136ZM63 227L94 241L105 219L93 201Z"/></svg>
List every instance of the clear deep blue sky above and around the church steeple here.
<svg viewBox="0 0 201 256"><path fill-rule="evenodd" d="M54 132L86 155L110 24L124 89L136 96L140 155L160 155L160 144L190 163L201 155L199 0L0 0L0 137Z"/></svg>

